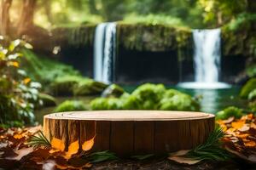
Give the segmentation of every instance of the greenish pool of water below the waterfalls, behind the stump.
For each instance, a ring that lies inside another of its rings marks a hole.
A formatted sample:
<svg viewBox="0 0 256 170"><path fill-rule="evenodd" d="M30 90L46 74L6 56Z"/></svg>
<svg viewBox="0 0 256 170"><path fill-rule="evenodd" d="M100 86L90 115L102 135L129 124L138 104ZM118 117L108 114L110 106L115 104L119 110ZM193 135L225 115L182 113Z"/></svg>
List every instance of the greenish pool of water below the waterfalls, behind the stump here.
<svg viewBox="0 0 256 170"><path fill-rule="evenodd" d="M131 93L137 86L122 86L125 91ZM201 102L201 111L215 114L217 111L223 110L225 107L230 105L236 105L237 107L245 108L246 101L239 98L240 87L232 87L225 89L188 89L178 88L175 86L166 86L166 88L175 88L184 93L190 94L195 98L199 98ZM92 97L57 97L57 104L60 104L66 99L79 99L84 101L85 105L89 105ZM36 120L39 123L43 122L43 117L46 114L54 112L55 107L47 107L36 111Z"/></svg>

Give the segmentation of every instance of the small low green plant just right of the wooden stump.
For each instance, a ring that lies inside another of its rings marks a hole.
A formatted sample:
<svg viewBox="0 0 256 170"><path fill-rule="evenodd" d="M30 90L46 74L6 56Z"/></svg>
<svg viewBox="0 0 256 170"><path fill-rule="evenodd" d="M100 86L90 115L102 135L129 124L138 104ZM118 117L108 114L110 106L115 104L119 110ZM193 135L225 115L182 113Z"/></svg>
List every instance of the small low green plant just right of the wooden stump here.
<svg viewBox="0 0 256 170"><path fill-rule="evenodd" d="M236 118L240 118L242 116L242 110L235 107L235 106L230 106L225 108L223 111L218 111L216 114L216 119L228 119L230 116L235 116Z"/></svg>

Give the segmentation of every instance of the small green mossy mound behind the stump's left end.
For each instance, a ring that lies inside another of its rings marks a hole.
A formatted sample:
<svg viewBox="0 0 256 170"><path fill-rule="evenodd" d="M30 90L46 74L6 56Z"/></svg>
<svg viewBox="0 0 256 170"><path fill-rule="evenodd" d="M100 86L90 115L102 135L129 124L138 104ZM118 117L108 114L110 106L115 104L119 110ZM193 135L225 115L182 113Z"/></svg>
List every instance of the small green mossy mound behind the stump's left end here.
<svg viewBox="0 0 256 170"><path fill-rule="evenodd" d="M58 105L55 109L55 112L63 112L63 111L86 111L84 103L79 100L66 100L60 105Z"/></svg>

